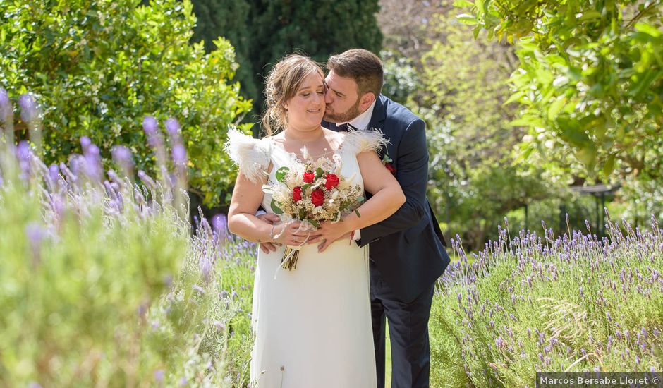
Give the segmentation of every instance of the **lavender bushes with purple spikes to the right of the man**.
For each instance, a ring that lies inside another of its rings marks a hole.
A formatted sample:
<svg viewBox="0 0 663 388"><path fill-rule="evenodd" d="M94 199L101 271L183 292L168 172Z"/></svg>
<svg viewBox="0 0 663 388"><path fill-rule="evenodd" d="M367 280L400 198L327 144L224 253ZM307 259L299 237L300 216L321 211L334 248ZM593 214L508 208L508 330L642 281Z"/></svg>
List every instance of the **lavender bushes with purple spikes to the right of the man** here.
<svg viewBox="0 0 663 388"><path fill-rule="evenodd" d="M609 219L609 217L608 217ZM439 280L432 386L533 387L537 371L663 369L663 236L609 220L609 237L520 231Z"/></svg>

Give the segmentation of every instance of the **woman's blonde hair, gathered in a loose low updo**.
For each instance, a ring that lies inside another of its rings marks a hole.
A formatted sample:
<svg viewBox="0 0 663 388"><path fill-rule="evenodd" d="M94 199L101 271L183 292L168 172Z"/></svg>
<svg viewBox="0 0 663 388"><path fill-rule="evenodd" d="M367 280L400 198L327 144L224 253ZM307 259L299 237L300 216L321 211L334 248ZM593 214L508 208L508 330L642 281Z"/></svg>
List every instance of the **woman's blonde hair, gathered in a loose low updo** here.
<svg viewBox="0 0 663 388"><path fill-rule="evenodd" d="M315 72L324 78L320 65L300 54L288 55L274 65L267 75L264 87L267 110L262 114L262 129L267 136L286 128L288 110L284 105L295 97L304 79Z"/></svg>

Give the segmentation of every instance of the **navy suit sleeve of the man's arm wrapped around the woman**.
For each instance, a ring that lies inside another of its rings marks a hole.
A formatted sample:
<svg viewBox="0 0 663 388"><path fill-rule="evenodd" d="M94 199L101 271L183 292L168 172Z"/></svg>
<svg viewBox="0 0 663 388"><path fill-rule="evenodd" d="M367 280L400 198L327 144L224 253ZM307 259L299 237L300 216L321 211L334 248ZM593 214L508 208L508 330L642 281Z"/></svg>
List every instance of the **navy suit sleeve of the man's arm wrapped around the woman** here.
<svg viewBox="0 0 663 388"><path fill-rule="evenodd" d="M361 229L361 246L409 229L425 215L428 149L426 125L421 119L412 121L401 139L396 159L396 180L403 189L406 202L389 218Z"/></svg>

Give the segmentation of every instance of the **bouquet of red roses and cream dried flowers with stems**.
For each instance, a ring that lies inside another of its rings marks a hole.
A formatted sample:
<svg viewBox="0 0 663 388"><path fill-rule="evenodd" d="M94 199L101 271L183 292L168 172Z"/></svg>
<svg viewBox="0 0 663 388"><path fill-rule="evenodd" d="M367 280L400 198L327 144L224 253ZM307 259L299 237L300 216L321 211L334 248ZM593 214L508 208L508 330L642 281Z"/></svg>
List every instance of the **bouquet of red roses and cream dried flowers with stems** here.
<svg viewBox="0 0 663 388"><path fill-rule="evenodd" d="M281 221L300 221L300 229L314 231L321 222L339 222L363 202L363 189L351 178L341 176L341 159L320 157L316 161L296 162L276 170L276 182L262 186L272 195L271 207ZM281 267L295 269L300 247L288 246Z"/></svg>

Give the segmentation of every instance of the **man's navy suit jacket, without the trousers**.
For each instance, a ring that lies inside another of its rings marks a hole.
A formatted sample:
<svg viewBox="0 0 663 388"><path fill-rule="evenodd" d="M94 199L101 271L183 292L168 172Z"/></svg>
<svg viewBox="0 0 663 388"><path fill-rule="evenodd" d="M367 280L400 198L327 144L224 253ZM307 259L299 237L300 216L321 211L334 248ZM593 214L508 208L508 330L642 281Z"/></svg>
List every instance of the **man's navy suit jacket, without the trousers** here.
<svg viewBox="0 0 663 388"><path fill-rule="evenodd" d="M333 123L324 123L336 129ZM408 303L429 289L449 265L444 237L426 198L428 149L426 126L403 105L379 95L368 125L389 140L383 147L393 160L406 202L391 217L361 229L360 245L370 244L375 262L391 291Z"/></svg>

